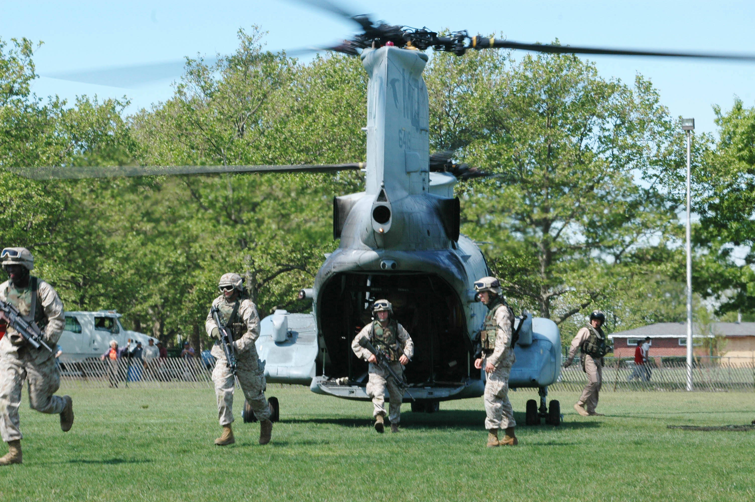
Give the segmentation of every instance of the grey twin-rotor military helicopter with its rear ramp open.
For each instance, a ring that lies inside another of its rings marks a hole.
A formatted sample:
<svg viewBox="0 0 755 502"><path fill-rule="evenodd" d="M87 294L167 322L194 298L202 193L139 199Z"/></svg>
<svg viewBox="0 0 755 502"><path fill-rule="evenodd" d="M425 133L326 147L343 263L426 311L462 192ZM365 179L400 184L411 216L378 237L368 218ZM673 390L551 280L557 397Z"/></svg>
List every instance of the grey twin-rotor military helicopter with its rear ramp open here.
<svg viewBox="0 0 755 502"><path fill-rule="evenodd" d="M367 365L350 345L371 321L371 303L387 298L415 344L405 376L412 411L433 412L439 402L482 396L484 374L473 368L473 339L486 308L472 284L491 275L475 242L460 233L459 179L485 176L451 162L449 153L430 155L424 51L462 56L483 48L569 54L616 54L755 60L736 54L535 45L497 38L448 36L428 29L374 23L328 2L310 2L356 22L362 32L329 48L359 56L369 76L365 163L288 166L177 166L142 168L36 168L20 171L37 179L219 172L297 172L363 169L365 190L333 200L333 236L340 246L316 275L311 313L276 310L261 323L260 359L271 383L298 383L326 396L369 399ZM519 328L521 325L521 328ZM540 404L527 403L526 421L560 422L559 402L547 403L547 387L561 368L559 329L550 319L523 314L516 319L519 341L511 388L537 388Z"/></svg>

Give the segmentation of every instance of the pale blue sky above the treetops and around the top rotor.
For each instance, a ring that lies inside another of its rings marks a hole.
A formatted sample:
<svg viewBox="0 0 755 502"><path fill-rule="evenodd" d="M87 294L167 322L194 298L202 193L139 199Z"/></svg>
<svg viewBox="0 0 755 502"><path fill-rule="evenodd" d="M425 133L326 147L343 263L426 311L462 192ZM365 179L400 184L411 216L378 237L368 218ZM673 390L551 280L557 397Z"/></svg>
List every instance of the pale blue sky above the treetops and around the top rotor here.
<svg viewBox="0 0 755 502"><path fill-rule="evenodd" d="M519 42L617 48L740 51L755 54L751 33L755 2L341 2L356 14L431 29L501 32ZM328 45L354 26L289 0L208 2L7 2L0 1L0 36L42 40L35 56L42 74L161 63L187 55L228 54L236 30L258 24L270 32L271 50ZM695 117L697 131L714 131L713 103L728 109L735 95L755 105L755 63L590 57L606 77L631 82L646 75L673 115ZM168 72L170 73L170 72ZM116 88L42 78L41 96L78 94L131 98L131 110L171 96L171 81Z"/></svg>

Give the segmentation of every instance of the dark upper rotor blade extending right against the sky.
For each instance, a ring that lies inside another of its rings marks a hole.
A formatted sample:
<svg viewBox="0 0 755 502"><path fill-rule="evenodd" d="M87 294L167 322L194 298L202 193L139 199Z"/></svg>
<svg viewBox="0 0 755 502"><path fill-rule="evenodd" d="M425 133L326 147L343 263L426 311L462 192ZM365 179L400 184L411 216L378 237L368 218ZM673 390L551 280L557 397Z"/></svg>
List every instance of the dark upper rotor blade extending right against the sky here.
<svg viewBox="0 0 755 502"><path fill-rule="evenodd" d="M486 38L486 37L481 37L481 36L472 37L470 48L475 48L475 49L506 48L506 49L519 49L522 51L547 52L550 54L605 54L609 56L691 57L691 58L698 58L698 59L755 61L755 55L751 55L751 54L648 51L648 50L641 50L641 49L579 47L575 45L525 44L522 42L513 42L511 40L499 40L497 38Z"/></svg>

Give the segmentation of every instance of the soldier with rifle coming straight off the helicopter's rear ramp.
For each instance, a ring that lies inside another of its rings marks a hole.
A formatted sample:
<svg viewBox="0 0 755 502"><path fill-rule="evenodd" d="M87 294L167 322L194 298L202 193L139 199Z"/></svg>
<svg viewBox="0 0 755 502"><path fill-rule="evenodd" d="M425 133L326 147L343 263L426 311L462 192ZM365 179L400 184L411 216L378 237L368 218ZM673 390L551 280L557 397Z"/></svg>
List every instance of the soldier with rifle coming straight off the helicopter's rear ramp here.
<svg viewBox="0 0 755 502"><path fill-rule="evenodd" d="M378 433L384 431L385 417L385 390L388 388L390 396L390 432L399 432L399 422L401 421L401 402L404 399L404 393L393 381L387 371L377 363L377 358L369 350L359 345L359 340L366 337L375 349L381 350L382 353L390 360L390 368L396 375L403 378L404 366L408 364L411 356L414 355L414 343L411 337L393 316L393 306L388 300L377 300L373 307L372 313L377 319L370 322L359 334L356 335L351 343L351 349L359 359L369 362L370 379L367 383L367 395L372 398L373 412L375 419L374 427Z"/></svg>

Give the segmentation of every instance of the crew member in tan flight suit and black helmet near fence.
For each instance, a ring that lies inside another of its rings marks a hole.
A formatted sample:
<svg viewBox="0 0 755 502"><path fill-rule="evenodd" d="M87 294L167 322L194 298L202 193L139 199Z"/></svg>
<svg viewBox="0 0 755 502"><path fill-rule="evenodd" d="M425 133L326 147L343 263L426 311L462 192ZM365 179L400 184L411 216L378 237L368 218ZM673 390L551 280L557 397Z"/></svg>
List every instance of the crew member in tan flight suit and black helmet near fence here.
<svg viewBox="0 0 755 502"><path fill-rule="evenodd" d="M572 340L569 357L564 362L564 368L568 368L575 358L577 349L581 349L580 360L582 371L587 373L587 384L584 386L579 401L574 405L574 409L583 417L602 416L602 413L596 413L595 408L598 405L598 394L603 381L603 356L611 350L606 334L601 329L605 322L606 315L599 310L594 310L590 314L590 323L581 328Z"/></svg>

